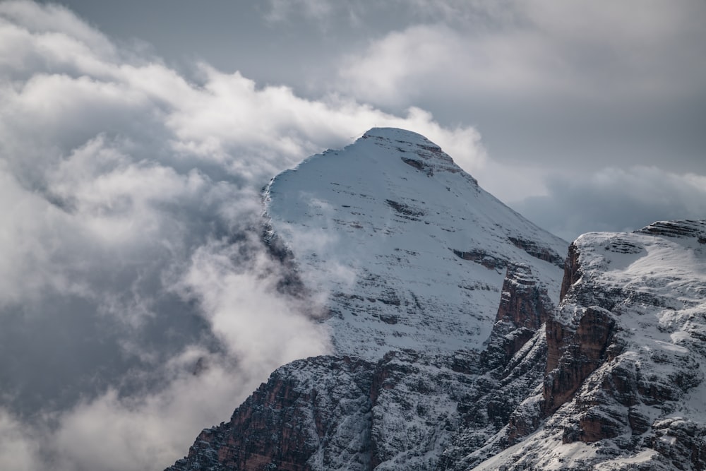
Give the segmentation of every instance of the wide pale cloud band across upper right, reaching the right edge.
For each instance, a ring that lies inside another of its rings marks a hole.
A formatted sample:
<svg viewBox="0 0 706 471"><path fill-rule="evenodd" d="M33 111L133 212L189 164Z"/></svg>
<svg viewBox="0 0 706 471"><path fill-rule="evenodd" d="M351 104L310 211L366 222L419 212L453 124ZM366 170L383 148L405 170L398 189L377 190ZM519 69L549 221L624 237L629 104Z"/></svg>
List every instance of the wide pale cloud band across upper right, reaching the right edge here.
<svg viewBox="0 0 706 471"><path fill-rule="evenodd" d="M342 61L338 87L379 105L453 95L631 101L703 91L699 1L416 4L426 12L417 24L375 37Z"/></svg>

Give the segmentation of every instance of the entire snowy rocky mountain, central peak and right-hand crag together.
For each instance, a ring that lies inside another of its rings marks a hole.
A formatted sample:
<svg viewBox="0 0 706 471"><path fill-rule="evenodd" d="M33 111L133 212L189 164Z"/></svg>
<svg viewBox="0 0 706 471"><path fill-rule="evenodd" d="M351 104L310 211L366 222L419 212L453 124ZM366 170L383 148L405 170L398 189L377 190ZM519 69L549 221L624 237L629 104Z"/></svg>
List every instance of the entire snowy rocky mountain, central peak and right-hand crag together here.
<svg viewBox="0 0 706 471"><path fill-rule="evenodd" d="M585 234L564 263L397 129L280 174L265 205L336 351L277 369L169 470L706 469L706 221Z"/></svg>

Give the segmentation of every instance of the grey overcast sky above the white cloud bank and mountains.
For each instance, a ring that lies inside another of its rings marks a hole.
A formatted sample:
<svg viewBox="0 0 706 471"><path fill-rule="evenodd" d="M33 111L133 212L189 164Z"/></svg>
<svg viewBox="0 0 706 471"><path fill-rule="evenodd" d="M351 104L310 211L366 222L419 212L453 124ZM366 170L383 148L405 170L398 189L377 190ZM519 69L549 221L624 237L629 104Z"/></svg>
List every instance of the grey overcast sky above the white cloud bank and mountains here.
<svg viewBox="0 0 706 471"><path fill-rule="evenodd" d="M186 78L206 63L256 88L472 127L486 160L452 157L566 239L706 213L700 0L61 3Z"/></svg>

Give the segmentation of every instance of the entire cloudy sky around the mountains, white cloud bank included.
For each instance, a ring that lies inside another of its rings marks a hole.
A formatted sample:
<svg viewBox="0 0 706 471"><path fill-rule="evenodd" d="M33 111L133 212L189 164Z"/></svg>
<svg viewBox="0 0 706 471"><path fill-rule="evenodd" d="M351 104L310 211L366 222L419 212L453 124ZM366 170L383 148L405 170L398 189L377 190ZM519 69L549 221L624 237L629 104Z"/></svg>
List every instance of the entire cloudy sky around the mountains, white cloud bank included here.
<svg viewBox="0 0 706 471"><path fill-rule="evenodd" d="M703 44L702 0L0 0L0 468L160 469L327 352L248 231L373 126L567 240L706 217Z"/></svg>

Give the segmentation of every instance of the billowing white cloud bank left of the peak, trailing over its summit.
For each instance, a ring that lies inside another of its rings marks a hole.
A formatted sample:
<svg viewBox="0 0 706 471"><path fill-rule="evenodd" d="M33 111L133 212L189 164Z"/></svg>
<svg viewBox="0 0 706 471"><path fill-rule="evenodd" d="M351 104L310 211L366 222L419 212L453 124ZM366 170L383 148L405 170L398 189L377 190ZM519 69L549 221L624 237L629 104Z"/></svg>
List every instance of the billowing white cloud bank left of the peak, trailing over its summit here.
<svg viewBox="0 0 706 471"><path fill-rule="evenodd" d="M0 467L160 469L273 369L328 351L277 289L260 189L373 126L469 168L479 134L196 64L187 79L61 6L0 3Z"/></svg>

